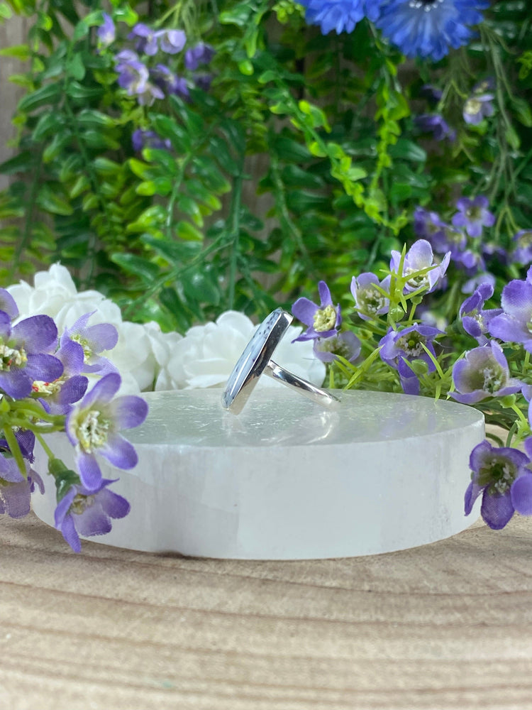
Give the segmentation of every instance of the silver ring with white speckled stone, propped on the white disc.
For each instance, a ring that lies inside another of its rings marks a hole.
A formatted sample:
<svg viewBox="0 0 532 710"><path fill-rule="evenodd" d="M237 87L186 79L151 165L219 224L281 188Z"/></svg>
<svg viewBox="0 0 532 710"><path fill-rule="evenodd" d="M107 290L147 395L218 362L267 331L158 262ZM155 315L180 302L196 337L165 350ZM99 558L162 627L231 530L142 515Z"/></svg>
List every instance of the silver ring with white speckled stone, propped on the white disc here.
<svg viewBox="0 0 532 710"><path fill-rule="evenodd" d="M325 408L340 403L340 400L331 393L285 370L272 360L275 348L291 322L292 315L282 308L272 311L262 321L229 376L222 395L224 409L233 414L240 414L262 373Z"/></svg>

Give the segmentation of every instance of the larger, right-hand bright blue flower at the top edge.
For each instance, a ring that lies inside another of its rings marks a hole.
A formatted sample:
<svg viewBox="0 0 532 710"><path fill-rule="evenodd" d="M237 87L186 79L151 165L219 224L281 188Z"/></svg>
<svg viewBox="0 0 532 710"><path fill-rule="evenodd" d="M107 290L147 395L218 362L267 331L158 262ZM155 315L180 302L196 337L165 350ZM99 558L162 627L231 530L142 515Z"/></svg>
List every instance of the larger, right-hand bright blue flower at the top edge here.
<svg viewBox="0 0 532 710"><path fill-rule="evenodd" d="M377 27L407 57L435 62L472 38L488 0L382 0Z"/></svg>

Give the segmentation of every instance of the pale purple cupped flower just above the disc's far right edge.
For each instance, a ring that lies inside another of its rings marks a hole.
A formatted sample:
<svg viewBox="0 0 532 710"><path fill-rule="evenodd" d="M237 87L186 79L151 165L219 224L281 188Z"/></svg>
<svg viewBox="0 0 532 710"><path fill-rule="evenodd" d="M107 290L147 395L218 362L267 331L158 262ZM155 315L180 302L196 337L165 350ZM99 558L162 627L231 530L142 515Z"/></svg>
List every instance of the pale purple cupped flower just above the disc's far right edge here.
<svg viewBox="0 0 532 710"><path fill-rule="evenodd" d="M499 343L474 348L453 366L456 392L450 395L462 404L475 404L489 397L505 397L521 390L523 383L510 377Z"/></svg>

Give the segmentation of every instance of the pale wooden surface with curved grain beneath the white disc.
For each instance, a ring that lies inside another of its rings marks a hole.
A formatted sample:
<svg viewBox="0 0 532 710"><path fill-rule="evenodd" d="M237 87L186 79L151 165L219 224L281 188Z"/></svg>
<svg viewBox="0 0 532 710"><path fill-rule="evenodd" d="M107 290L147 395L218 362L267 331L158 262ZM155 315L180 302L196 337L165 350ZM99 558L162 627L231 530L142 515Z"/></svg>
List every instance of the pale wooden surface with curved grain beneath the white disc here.
<svg viewBox="0 0 532 710"><path fill-rule="evenodd" d="M0 518L2 710L529 710L532 521L316 562L149 555Z"/></svg>

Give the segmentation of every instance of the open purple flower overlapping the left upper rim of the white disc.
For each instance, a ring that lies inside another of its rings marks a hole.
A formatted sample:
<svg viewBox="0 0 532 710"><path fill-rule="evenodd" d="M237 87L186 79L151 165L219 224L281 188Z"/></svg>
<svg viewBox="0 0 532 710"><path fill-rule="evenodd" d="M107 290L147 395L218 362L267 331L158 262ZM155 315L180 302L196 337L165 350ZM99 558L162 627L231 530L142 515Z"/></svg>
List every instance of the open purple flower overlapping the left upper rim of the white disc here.
<svg viewBox="0 0 532 710"><path fill-rule="evenodd" d="M96 454L119 469L132 469L137 464L133 445L120 435L119 430L142 424L148 414L148 405L135 395L123 395L113 400L120 384L118 373L105 375L67 414L67 437L76 448L82 484L90 491L98 489L101 484Z"/></svg>

